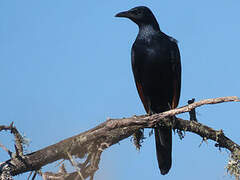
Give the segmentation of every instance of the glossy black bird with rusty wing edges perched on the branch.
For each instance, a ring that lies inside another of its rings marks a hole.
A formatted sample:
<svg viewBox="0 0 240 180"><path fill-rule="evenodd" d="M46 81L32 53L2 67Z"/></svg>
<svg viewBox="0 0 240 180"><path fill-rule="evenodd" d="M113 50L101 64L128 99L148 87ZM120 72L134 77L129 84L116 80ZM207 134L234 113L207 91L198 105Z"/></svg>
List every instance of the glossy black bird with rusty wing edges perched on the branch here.
<svg viewBox="0 0 240 180"><path fill-rule="evenodd" d="M164 34L151 10L135 7L116 14L139 27L131 60L138 94L148 114L161 113L178 105L181 89L181 62L177 41ZM172 165L172 130L156 127L156 154L161 174Z"/></svg>

